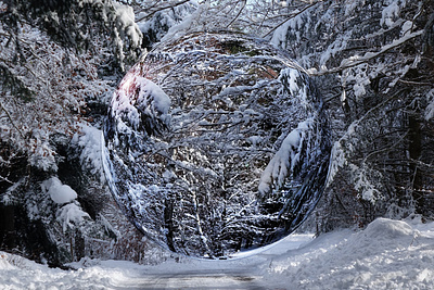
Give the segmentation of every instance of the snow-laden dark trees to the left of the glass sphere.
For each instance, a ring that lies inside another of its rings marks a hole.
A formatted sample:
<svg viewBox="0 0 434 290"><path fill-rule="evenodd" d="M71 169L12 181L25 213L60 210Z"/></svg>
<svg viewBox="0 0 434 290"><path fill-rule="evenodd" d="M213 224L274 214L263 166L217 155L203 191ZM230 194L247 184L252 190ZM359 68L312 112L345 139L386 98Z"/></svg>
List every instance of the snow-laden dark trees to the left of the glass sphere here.
<svg viewBox="0 0 434 290"><path fill-rule="evenodd" d="M107 0L0 1L2 249L56 266L143 261L148 243L104 185L97 128L116 74L140 52L132 12Z"/></svg>

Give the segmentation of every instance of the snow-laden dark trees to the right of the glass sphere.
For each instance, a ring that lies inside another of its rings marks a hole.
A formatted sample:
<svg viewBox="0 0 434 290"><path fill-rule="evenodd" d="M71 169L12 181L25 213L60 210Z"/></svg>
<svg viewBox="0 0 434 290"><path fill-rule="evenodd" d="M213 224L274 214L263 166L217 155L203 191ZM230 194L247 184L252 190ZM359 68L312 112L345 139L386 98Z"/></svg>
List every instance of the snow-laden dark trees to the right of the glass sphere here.
<svg viewBox="0 0 434 290"><path fill-rule="evenodd" d="M322 211L330 225L432 215L433 136L424 116L433 81L433 7L319 1L272 35L272 43L317 76L331 109L336 142ZM333 211L344 216L337 223Z"/></svg>

